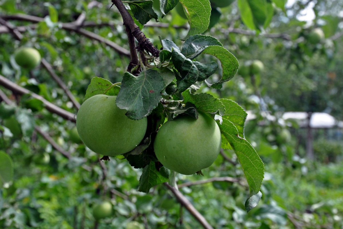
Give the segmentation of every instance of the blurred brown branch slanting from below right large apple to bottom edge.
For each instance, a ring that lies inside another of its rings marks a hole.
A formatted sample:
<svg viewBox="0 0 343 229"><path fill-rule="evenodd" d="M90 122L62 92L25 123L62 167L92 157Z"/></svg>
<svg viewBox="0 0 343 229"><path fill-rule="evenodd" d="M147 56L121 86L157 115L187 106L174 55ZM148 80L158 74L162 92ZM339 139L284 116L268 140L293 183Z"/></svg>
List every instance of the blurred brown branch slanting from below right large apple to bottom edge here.
<svg viewBox="0 0 343 229"><path fill-rule="evenodd" d="M205 229L213 229L213 227L208 223L208 221L204 218L203 215L201 215L198 210L189 202L189 200L182 195L181 192L179 192L176 188L170 186L168 183L164 183L164 185L175 195L177 200L185 206L185 208L189 211L194 218L196 218L200 224L205 228Z"/></svg>

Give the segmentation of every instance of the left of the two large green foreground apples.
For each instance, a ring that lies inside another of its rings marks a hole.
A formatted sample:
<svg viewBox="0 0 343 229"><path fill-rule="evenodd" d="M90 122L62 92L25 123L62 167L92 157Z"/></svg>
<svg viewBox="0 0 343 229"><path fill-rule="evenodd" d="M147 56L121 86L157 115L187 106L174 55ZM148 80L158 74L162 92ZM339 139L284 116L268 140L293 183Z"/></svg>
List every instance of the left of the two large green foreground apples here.
<svg viewBox="0 0 343 229"><path fill-rule="evenodd" d="M116 105L117 96L95 95L81 105L76 128L83 143L95 153L115 156L134 149L143 139L147 119L129 119Z"/></svg>

